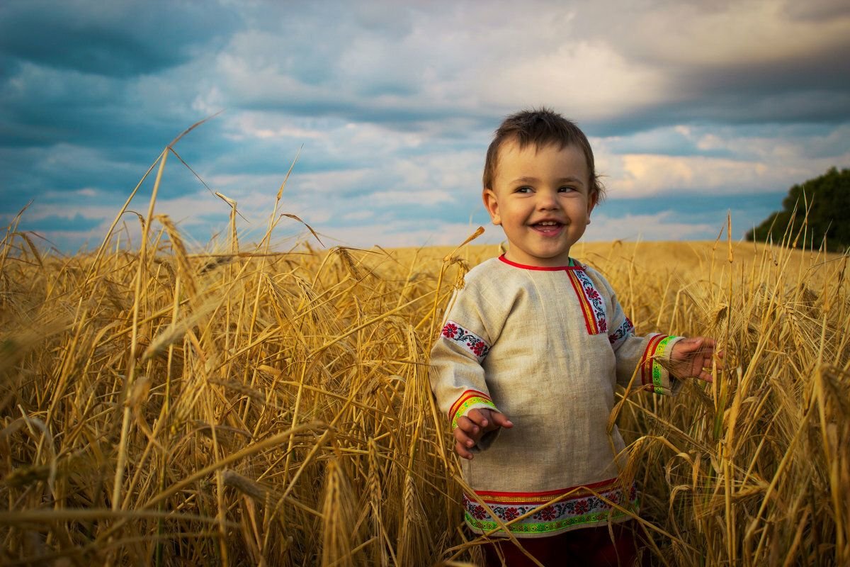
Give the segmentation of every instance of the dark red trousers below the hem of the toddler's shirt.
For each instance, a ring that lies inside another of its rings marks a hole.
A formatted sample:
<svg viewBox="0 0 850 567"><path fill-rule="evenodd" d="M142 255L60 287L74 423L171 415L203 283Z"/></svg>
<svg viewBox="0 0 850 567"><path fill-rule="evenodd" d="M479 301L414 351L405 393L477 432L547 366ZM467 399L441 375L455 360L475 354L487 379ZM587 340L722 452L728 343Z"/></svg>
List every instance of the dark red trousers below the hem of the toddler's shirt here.
<svg viewBox="0 0 850 567"><path fill-rule="evenodd" d="M577 565L580 567L611 566L632 567L638 558L638 546L635 542L633 522L614 524L614 540L608 532L608 526L581 528L558 536L526 537L519 539L525 551L533 555L546 567ZM496 551L498 547L508 567L534 565L524 553L519 551L512 541L494 541L484 545L484 557L487 567L500 567L501 559Z"/></svg>

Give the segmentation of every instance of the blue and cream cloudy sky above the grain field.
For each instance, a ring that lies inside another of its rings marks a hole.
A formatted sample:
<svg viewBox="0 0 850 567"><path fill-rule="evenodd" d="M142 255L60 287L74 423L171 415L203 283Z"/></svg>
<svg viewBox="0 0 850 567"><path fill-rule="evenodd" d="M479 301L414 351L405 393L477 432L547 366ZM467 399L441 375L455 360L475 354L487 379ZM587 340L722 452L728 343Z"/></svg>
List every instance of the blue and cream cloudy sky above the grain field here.
<svg viewBox="0 0 850 567"><path fill-rule="evenodd" d="M579 123L605 175L588 239L713 239L728 211L740 237L792 184L850 167L850 4L3 0L0 221L32 201L21 230L96 247L161 150L223 111L175 150L238 203L244 241L299 149L280 212L326 246L479 224L501 241L484 150L539 105ZM169 157L158 213L203 247L229 210ZM277 245L299 234L283 218Z"/></svg>

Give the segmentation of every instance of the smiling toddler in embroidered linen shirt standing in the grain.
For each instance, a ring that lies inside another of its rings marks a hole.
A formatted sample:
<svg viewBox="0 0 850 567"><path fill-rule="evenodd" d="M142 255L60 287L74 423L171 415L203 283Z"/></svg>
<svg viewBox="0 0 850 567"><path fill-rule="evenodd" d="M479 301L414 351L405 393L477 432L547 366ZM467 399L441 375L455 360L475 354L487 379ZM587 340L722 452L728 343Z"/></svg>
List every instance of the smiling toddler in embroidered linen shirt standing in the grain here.
<svg viewBox="0 0 850 567"><path fill-rule="evenodd" d="M635 556L621 525L609 536L609 522L629 516L594 495L637 509L634 486L618 479L623 439L608 432L615 385L636 368L634 383L658 394L677 388L666 368L711 381L713 340L636 337L608 281L570 258L601 195L574 123L546 109L508 116L487 150L483 198L509 246L466 275L431 353L467 485L502 523L536 509L508 529L546 565ZM498 528L476 498L463 505L473 532ZM498 547L509 565L533 564ZM496 547L485 552L501 564Z"/></svg>

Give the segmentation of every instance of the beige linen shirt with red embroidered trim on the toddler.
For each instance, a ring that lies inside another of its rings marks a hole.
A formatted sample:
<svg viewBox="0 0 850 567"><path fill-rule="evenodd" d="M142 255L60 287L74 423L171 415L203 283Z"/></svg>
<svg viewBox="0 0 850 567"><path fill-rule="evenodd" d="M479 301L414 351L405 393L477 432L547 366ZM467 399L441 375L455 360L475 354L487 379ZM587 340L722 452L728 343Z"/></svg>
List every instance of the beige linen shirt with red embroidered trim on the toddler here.
<svg viewBox="0 0 850 567"><path fill-rule="evenodd" d="M501 257L471 269L433 345L431 385L452 428L475 408L497 408L514 426L485 436L462 462L475 492L464 496L469 527L500 527L482 503L520 537L627 518L599 498L637 504L618 482L623 439L607 430L615 385L637 372L633 388L670 393L659 361L677 340L635 336L608 281L579 263L536 268Z"/></svg>

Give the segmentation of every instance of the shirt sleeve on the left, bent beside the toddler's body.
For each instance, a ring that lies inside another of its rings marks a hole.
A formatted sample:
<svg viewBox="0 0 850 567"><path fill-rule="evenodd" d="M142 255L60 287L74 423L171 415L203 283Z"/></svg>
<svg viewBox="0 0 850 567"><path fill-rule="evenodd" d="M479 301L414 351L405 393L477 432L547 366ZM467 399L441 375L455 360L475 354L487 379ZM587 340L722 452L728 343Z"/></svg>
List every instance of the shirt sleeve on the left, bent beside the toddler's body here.
<svg viewBox="0 0 850 567"><path fill-rule="evenodd" d="M482 363L492 347L492 326L485 303L468 289L455 293L443 328L431 349L430 371L433 394L451 428L476 408L497 410L490 399ZM489 327L489 328L488 328ZM486 449L498 430L479 439L474 449Z"/></svg>

